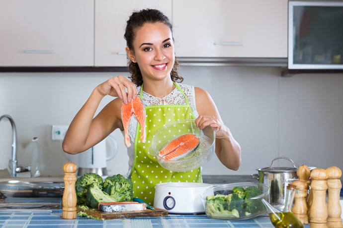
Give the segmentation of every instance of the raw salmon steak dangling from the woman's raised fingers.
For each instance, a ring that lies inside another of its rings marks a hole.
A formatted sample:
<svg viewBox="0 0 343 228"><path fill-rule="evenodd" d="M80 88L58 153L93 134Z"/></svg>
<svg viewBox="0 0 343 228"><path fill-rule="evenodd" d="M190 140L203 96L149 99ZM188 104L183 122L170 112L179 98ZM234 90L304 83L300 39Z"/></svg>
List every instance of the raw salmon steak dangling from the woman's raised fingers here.
<svg viewBox="0 0 343 228"><path fill-rule="evenodd" d="M145 143L147 138L147 134L145 131L145 109L142 100L137 97L135 100L132 100L127 105L123 102L123 104L121 105L121 120L123 122L125 131L124 143L126 147L131 146L128 129L133 114L135 114L142 128L141 142Z"/></svg>

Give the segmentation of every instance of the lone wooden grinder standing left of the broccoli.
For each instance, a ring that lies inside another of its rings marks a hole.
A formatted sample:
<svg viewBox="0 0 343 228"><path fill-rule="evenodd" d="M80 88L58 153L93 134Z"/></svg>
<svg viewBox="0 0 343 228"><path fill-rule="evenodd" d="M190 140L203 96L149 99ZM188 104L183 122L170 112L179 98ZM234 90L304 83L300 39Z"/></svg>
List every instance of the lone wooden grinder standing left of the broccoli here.
<svg viewBox="0 0 343 228"><path fill-rule="evenodd" d="M75 172L77 167L74 163L69 162L64 164L64 192L62 197L63 212L62 219L76 219L76 191L75 191L75 182L76 175Z"/></svg>

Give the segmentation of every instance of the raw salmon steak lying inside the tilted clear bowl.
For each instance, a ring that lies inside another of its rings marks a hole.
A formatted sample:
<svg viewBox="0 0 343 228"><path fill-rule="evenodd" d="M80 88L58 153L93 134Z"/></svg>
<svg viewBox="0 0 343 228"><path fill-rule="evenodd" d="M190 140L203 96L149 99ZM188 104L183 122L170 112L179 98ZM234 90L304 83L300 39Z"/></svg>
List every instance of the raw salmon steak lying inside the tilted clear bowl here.
<svg viewBox="0 0 343 228"><path fill-rule="evenodd" d="M192 153L199 146L199 138L194 134L184 134L172 140L159 155L168 160L178 160Z"/></svg>

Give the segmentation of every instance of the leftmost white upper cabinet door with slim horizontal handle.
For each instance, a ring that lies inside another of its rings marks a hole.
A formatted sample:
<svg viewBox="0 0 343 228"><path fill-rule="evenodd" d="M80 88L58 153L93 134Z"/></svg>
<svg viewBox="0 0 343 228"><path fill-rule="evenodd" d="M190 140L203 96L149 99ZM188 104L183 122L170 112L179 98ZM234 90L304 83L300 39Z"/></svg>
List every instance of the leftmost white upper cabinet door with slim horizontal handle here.
<svg viewBox="0 0 343 228"><path fill-rule="evenodd" d="M0 0L0 66L92 66L94 0Z"/></svg>

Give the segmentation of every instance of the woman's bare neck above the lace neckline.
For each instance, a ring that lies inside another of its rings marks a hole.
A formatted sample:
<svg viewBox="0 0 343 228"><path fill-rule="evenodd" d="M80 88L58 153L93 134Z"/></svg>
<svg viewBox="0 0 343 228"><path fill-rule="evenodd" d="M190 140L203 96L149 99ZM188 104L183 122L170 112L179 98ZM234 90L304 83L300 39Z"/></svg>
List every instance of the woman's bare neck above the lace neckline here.
<svg viewBox="0 0 343 228"><path fill-rule="evenodd" d="M168 81L154 81L144 82L143 91L154 96L163 98L175 89L175 85L171 80Z"/></svg>

